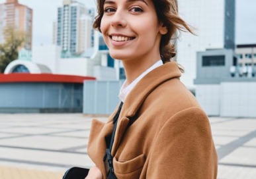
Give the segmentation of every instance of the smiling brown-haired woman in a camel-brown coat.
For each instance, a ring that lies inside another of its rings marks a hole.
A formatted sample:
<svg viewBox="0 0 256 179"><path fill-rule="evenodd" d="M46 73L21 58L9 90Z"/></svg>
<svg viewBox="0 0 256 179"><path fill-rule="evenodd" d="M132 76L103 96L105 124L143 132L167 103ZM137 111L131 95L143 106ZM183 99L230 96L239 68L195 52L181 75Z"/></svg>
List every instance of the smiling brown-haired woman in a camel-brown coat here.
<svg viewBox="0 0 256 179"><path fill-rule="evenodd" d="M87 178L216 178L208 117L180 82L177 63L169 62L175 32L191 32L178 16L177 2L97 3L94 28L103 34L110 55L122 61L126 81L119 95L122 108L107 123L92 122L88 154L96 166ZM113 118L118 118L116 130Z"/></svg>

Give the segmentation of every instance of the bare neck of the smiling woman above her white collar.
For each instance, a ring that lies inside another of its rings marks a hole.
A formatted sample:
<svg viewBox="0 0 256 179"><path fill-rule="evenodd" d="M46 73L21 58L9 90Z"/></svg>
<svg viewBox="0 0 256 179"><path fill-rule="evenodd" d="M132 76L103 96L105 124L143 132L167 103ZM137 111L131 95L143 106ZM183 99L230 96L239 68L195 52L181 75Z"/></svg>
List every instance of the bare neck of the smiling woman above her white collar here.
<svg viewBox="0 0 256 179"><path fill-rule="evenodd" d="M123 60L122 64L124 65L124 70L126 74L126 85L131 84L140 74L145 72L150 66L159 61L159 57L149 59L132 59L132 60ZM136 62L136 63L134 63Z"/></svg>

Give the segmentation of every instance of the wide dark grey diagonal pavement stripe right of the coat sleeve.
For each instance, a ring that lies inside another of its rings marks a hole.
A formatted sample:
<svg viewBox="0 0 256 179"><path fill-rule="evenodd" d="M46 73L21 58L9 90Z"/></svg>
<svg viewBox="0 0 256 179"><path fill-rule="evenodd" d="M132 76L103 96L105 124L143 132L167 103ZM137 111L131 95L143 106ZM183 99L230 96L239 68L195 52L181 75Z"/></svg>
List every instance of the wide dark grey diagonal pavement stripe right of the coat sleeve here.
<svg viewBox="0 0 256 179"><path fill-rule="evenodd" d="M256 130L226 145L222 145L222 147L217 149L218 160L220 161L221 159L223 159L224 157L232 153L232 151L234 151L238 147L241 147L243 143L246 143L247 141L252 140L255 137L256 137Z"/></svg>

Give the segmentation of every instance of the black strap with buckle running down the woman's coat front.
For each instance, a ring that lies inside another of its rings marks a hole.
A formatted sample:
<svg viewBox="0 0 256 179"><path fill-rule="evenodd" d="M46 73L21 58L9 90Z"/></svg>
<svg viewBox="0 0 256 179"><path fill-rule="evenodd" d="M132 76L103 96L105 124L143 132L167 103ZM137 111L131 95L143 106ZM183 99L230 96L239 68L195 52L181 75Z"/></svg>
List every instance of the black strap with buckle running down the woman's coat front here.
<svg viewBox="0 0 256 179"><path fill-rule="evenodd" d="M112 146L114 143L114 135L116 134L116 126L117 126L117 122L118 122L118 117L119 117L120 111L122 109L122 104L123 103L121 102L118 107L118 111L117 111L116 115L114 115L114 118L113 118L114 126L113 126L111 140L110 140L108 148L106 149L106 154L103 158L104 162L106 162L106 160L107 160L107 167L108 167L107 178L108 179L116 179L116 176L114 174L113 157L111 155L111 151L112 151Z"/></svg>

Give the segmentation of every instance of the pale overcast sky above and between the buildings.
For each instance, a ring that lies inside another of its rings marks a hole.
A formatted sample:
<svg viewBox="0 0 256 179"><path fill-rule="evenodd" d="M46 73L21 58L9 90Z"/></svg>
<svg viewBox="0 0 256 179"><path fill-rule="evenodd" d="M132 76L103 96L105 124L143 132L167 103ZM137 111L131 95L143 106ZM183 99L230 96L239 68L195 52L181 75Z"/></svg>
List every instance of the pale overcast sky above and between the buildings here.
<svg viewBox="0 0 256 179"><path fill-rule="evenodd" d="M87 7L95 7L96 0L78 0ZM207 1L207 0L206 0ZM5 0L0 0L4 3ZM62 0L19 0L19 3L33 9L33 45L52 43L52 22L57 18L57 8ZM236 0L237 44L256 43L256 0Z"/></svg>

